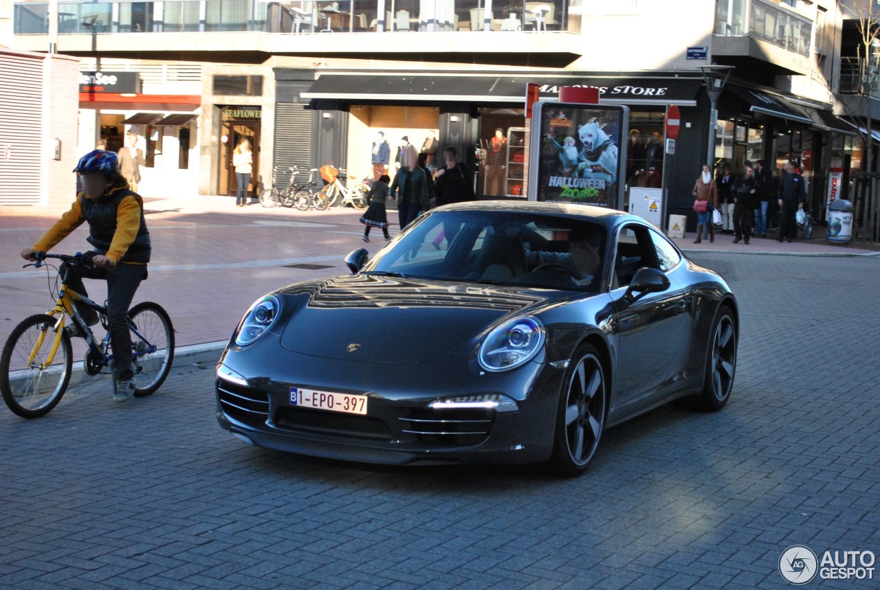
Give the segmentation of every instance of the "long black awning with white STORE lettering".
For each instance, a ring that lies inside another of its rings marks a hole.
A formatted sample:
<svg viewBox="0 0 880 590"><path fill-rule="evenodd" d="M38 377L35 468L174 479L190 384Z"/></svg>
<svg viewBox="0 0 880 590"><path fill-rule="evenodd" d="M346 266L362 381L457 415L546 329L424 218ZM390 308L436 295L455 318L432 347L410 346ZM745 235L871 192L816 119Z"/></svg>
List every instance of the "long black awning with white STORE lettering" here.
<svg viewBox="0 0 880 590"><path fill-rule="evenodd" d="M695 106L702 81L697 78L593 78L546 76L320 76L303 98L417 100L420 102L522 103L525 84L539 84L541 95L555 97L561 86L590 86L600 101L623 105Z"/></svg>

